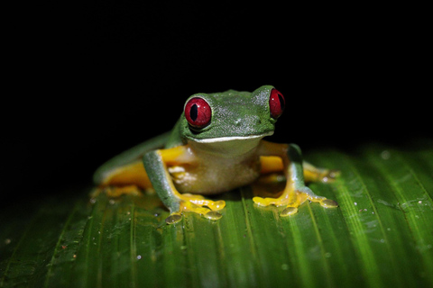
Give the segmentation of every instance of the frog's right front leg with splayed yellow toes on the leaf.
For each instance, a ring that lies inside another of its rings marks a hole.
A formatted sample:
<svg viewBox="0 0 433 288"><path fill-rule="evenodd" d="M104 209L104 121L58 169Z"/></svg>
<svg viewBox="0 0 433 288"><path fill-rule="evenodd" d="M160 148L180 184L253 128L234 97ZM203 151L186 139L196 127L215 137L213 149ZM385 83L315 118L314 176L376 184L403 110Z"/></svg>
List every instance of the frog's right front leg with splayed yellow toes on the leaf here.
<svg viewBox="0 0 433 288"><path fill-rule="evenodd" d="M266 163L266 156L281 157L282 169L287 180L286 186L278 198L254 197L253 202L260 206L286 206L286 209L281 212L281 216L288 216L296 213L299 205L306 200L318 202L326 208L338 206L335 201L316 195L305 185L302 158L300 155L300 149L297 145L276 144L262 141L259 152L264 156L262 161L263 171L274 169L267 166L269 163Z"/></svg>

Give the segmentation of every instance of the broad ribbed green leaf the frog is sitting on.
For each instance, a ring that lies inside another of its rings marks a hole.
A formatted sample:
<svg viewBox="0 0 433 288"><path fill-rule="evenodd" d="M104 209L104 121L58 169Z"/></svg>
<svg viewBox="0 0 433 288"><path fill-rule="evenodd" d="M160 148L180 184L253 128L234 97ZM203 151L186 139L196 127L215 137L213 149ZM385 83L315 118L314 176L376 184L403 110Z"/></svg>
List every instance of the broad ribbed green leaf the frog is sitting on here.
<svg viewBox="0 0 433 288"><path fill-rule="evenodd" d="M433 143L311 151L339 169L310 184L339 203L293 216L218 195L223 218L166 225L155 195L88 200L89 188L0 214L0 287L432 287Z"/></svg>

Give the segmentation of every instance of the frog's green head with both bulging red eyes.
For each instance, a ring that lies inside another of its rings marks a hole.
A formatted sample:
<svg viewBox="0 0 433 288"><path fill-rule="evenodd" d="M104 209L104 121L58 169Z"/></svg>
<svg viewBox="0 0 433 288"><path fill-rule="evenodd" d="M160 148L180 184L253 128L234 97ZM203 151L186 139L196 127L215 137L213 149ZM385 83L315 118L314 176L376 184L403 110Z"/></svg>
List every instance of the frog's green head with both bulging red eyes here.
<svg viewBox="0 0 433 288"><path fill-rule="evenodd" d="M180 133L199 143L262 139L272 135L284 97L271 85L250 92L193 94L180 118Z"/></svg>

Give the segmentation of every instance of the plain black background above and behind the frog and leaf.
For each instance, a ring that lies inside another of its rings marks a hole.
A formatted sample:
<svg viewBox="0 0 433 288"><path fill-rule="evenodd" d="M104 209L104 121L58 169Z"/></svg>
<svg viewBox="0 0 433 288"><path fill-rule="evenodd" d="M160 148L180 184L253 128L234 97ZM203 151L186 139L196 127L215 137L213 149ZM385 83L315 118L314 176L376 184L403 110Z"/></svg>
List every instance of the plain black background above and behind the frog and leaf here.
<svg viewBox="0 0 433 288"><path fill-rule="evenodd" d="M198 92L275 85L288 105L273 140L307 152L431 137L418 9L151 3L14 10L3 44L2 204L91 184L106 159L170 130Z"/></svg>

